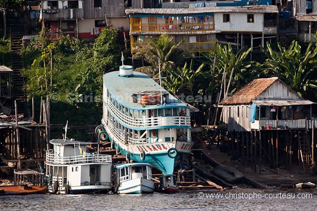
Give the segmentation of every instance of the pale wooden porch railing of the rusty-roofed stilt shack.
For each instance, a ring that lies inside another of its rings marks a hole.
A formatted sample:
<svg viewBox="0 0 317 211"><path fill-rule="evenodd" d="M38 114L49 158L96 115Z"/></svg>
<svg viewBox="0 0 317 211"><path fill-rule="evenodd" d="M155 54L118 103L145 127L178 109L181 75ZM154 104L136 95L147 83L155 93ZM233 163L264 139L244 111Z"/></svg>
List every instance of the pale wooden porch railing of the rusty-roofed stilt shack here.
<svg viewBox="0 0 317 211"><path fill-rule="evenodd" d="M267 126L270 129L309 129L317 127L317 120L255 120L254 123L251 123L251 129L266 129Z"/></svg>

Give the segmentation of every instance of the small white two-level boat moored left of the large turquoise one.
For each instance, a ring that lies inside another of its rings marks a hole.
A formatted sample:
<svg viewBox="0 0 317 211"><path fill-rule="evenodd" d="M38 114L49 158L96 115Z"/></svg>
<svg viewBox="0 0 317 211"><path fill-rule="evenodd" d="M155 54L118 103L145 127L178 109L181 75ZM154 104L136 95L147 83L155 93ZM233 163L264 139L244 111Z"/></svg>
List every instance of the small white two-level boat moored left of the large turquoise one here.
<svg viewBox="0 0 317 211"><path fill-rule="evenodd" d="M53 139L46 152L49 192L54 194L107 193L111 185L111 155L86 153L86 145L74 139Z"/></svg>

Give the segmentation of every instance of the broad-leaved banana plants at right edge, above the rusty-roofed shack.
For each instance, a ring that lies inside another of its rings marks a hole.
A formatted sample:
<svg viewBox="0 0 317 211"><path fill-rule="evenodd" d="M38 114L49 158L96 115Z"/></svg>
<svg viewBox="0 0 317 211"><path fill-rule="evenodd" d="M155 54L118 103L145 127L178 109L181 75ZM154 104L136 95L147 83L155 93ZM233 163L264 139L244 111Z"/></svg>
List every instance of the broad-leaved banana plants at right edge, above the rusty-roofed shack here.
<svg viewBox="0 0 317 211"><path fill-rule="evenodd" d="M279 52L274 51L269 43L264 51L267 59L265 66L272 76L279 77L300 96L316 96L316 47L309 43L302 53L301 45L292 41L288 49L278 43Z"/></svg>

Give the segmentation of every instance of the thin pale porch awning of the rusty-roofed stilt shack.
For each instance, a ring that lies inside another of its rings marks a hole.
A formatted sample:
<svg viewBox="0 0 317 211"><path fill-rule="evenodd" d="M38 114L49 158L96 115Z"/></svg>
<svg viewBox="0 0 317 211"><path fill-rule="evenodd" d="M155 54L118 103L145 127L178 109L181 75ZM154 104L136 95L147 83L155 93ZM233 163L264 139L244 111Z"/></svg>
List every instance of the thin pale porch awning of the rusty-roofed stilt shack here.
<svg viewBox="0 0 317 211"><path fill-rule="evenodd" d="M260 106L296 106L315 104L309 100L253 100L252 102Z"/></svg>

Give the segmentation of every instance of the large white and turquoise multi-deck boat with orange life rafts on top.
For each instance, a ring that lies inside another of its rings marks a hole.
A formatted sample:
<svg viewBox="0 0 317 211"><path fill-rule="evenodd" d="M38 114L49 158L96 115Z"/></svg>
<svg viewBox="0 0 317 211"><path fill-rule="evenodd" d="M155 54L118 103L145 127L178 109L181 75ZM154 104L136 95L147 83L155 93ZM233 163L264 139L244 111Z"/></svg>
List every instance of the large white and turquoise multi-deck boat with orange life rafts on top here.
<svg viewBox="0 0 317 211"><path fill-rule="evenodd" d="M150 163L172 174L178 155L190 153L190 107L146 74L129 65L103 76L102 125L99 138L127 160Z"/></svg>

